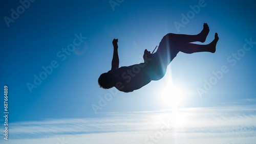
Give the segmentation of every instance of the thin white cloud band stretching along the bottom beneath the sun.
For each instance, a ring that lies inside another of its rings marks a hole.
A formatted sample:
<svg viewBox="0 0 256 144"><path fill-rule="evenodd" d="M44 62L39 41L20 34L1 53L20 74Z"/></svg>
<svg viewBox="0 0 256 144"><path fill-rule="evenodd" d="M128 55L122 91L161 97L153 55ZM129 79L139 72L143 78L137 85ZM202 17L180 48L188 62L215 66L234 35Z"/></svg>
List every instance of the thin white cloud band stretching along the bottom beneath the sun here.
<svg viewBox="0 0 256 144"><path fill-rule="evenodd" d="M158 142L147 142L169 143L176 139L178 143L250 143L256 139L256 106L184 108L176 113L104 113L97 118L17 122L10 124L10 140L5 143L58 143L62 137L69 143L145 143L145 139L166 128L164 124L169 125L169 131L162 133Z"/></svg>

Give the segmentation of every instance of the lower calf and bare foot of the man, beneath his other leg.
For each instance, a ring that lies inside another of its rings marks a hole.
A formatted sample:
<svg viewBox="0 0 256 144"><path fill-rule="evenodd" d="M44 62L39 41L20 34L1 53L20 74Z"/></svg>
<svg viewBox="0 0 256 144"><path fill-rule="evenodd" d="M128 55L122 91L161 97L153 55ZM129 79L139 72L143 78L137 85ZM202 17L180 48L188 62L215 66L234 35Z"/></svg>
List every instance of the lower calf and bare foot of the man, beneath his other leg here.
<svg viewBox="0 0 256 144"><path fill-rule="evenodd" d="M176 49L186 54L192 54L197 52L211 52L215 53L216 44L219 40L218 34L215 33L215 39L206 45L187 43L187 44L176 44Z"/></svg>

